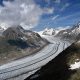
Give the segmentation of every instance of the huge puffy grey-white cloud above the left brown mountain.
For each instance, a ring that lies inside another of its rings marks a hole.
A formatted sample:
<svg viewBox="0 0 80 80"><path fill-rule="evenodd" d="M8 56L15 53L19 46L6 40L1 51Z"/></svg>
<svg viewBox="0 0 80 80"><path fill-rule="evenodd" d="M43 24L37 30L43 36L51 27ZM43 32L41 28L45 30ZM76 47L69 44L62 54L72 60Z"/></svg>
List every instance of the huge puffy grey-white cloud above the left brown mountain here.
<svg viewBox="0 0 80 80"><path fill-rule="evenodd" d="M3 1L0 7L0 23L10 25L21 24L24 28L33 28L39 22L43 10L33 0Z"/></svg>

